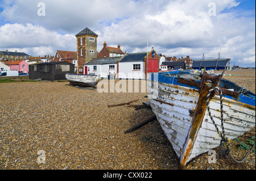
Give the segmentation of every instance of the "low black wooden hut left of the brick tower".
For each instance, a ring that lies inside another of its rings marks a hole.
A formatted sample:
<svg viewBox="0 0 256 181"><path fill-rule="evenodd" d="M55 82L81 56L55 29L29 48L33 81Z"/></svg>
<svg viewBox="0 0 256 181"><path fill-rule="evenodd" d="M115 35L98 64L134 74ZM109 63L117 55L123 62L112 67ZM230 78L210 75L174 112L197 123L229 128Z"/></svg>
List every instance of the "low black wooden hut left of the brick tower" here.
<svg viewBox="0 0 256 181"><path fill-rule="evenodd" d="M29 65L30 79L47 81L65 80L65 74L75 73L75 64L69 62L44 62Z"/></svg>

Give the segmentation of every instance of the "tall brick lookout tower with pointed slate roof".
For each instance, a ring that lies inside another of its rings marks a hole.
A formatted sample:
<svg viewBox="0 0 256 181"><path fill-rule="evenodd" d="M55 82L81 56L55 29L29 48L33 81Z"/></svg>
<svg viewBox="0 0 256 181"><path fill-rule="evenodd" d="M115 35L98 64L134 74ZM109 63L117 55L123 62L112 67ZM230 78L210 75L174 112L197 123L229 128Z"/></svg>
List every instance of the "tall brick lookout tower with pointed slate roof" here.
<svg viewBox="0 0 256 181"><path fill-rule="evenodd" d="M83 66L91 58L97 58L97 37L98 35L87 27L77 33L77 74L84 72Z"/></svg>

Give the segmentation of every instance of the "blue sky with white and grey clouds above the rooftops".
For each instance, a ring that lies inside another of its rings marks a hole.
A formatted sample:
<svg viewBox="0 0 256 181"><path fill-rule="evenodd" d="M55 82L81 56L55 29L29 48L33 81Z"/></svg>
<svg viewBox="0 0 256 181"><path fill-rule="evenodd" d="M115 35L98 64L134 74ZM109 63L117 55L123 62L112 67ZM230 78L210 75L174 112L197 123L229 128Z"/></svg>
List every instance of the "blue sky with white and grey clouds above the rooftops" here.
<svg viewBox="0 0 256 181"><path fill-rule="evenodd" d="M76 51L88 27L123 52L230 58L255 67L254 0L0 0L0 50L30 56Z"/></svg>

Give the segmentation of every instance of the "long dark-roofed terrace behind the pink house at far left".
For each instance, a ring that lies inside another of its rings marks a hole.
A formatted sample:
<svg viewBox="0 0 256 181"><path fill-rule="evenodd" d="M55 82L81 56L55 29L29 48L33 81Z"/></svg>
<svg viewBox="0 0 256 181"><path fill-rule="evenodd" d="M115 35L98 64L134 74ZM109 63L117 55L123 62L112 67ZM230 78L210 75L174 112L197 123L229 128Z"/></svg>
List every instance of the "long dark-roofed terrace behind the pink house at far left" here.
<svg viewBox="0 0 256 181"><path fill-rule="evenodd" d="M16 61L16 60L25 60L26 58L30 57L28 54L23 52L9 52L0 51L0 61Z"/></svg>

